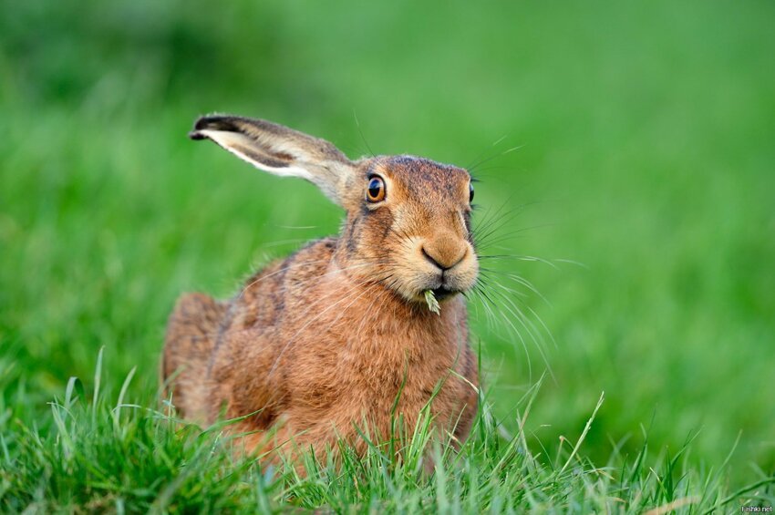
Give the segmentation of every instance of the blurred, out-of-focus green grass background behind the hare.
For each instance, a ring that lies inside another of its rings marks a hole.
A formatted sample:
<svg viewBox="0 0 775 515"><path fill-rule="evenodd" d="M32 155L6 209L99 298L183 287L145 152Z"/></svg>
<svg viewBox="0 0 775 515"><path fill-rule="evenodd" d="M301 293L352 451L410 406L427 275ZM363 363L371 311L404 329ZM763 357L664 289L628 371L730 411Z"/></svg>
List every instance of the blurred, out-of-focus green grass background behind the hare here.
<svg viewBox="0 0 775 515"><path fill-rule="evenodd" d="M152 402L178 294L226 297L337 232L311 185L186 139L226 111L351 157L484 161L482 253L546 260L488 267L547 302L497 275L474 343L507 425L551 368L528 423L550 454L604 391L598 465L646 427L657 449L698 430L690 459L718 467L741 431L733 479L771 473L773 20L765 0L0 3L0 417L45 426L101 346L109 387L137 366Z"/></svg>

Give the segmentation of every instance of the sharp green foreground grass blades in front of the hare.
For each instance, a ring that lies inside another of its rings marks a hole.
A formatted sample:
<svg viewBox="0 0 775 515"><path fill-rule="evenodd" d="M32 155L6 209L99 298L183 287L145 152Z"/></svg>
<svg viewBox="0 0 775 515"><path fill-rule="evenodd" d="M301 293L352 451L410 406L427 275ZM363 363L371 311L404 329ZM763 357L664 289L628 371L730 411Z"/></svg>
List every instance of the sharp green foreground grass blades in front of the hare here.
<svg viewBox="0 0 775 515"><path fill-rule="evenodd" d="M100 389L101 357L90 398L73 377L64 397L50 403L51 427L21 427L0 442L5 510L705 513L730 510L740 500L749 506L775 500L767 488L773 478L730 492L723 464L687 468L688 442L673 456L653 457L644 438L636 456L615 452L594 467L579 450L602 396L576 441L553 457L543 448L533 451L523 428L540 384L523 399L513 436L482 399L471 437L458 452L432 437L426 411L418 427L387 444L363 432L365 457L340 442L340 464L307 454L305 474L289 463L262 469L223 436L228 421L202 430L168 408L149 407L151 399L131 402L133 372L118 396Z"/></svg>

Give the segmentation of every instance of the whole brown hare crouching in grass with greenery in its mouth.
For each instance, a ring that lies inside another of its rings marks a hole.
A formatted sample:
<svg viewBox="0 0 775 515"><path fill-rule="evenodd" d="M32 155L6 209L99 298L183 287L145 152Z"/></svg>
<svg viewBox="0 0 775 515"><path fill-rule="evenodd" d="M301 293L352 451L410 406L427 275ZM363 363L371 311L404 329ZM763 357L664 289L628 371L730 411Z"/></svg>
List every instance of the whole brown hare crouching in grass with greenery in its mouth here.
<svg viewBox="0 0 775 515"><path fill-rule="evenodd" d="M365 425L383 437L398 416L414 427L432 398L439 435L464 440L479 400L462 295L479 273L469 172L406 155L348 160L261 119L206 116L190 137L310 180L346 221L228 301L181 296L161 364L181 416L242 417L229 427L254 453L289 441L319 453L337 438L363 452Z"/></svg>

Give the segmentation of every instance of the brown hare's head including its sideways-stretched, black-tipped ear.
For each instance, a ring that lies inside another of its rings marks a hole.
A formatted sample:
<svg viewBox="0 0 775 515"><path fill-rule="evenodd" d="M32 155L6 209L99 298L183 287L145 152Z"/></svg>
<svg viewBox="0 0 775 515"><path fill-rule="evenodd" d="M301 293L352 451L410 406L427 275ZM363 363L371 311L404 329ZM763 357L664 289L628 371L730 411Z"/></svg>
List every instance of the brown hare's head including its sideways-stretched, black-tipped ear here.
<svg viewBox="0 0 775 515"><path fill-rule="evenodd" d="M210 116L192 139L212 139L256 168L310 180L347 211L336 262L357 281L408 301L468 291L479 264L470 231L468 171L411 156L351 161L323 140L264 120Z"/></svg>

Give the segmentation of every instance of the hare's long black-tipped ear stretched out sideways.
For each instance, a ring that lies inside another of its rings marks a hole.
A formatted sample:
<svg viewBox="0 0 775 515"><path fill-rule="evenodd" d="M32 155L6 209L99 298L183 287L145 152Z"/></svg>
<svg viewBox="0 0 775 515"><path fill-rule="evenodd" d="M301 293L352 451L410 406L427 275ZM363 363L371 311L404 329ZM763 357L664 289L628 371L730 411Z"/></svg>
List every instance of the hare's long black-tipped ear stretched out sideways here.
<svg viewBox="0 0 775 515"><path fill-rule="evenodd" d="M354 163L325 139L263 119L202 117L189 137L212 139L260 170L309 180L339 205L344 205L356 176Z"/></svg>

